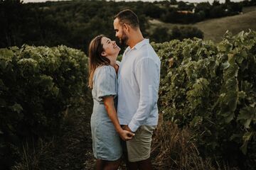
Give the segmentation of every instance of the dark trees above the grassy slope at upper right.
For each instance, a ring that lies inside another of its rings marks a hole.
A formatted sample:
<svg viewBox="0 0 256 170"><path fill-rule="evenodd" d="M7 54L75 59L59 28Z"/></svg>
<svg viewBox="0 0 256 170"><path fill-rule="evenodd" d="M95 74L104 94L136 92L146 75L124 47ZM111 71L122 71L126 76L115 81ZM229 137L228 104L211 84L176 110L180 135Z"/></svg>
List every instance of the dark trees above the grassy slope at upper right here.
<svg viewBox="0 0 256 170"><path fill-rule="evenodd" d="M145 5L145 13L151 18L168 23L196 23L209 18L233 16L242 12L242 6L255 5L255 0L245 2L225 1L220 4L218 0L201 3L188 3L184 1L160 1Z"/></svg>

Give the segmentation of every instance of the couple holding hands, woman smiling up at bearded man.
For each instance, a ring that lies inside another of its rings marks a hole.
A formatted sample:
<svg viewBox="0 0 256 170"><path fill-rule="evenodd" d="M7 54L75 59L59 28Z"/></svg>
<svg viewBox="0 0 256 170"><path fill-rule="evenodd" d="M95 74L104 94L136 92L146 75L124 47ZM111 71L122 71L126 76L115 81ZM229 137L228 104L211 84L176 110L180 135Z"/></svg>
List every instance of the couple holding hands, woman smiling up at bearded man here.
<svg viewBox="0 0 256 170"><path fill-rule="evenodd" d="M158 122L160 60L143 38L133 11L119 12L114 30L120 43L129 46L121 63L117 62L120 48L104 35L94 38L89 47L96 169L118 169L123 153L128 169L152 169L149 157Z"/></svg>

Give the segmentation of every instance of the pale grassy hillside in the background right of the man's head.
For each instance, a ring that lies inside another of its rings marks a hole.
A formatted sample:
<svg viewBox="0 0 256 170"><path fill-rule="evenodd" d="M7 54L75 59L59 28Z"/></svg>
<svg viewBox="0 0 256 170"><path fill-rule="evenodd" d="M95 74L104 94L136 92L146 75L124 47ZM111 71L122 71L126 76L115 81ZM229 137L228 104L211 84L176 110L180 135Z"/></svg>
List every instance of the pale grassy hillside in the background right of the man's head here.
<svg viewBox="0 0 256 170"><path fill-rule="evenodd" d="M174 26L194 26L203 31L205 40L213 40L213 42L220 42L226 30L229 30L233 35L242 30L248 31L256 30L256 6L245 7L243 13L236 16L227 16L223 18L214 18L207 21L201 21L195 24L173 24L163 23L157 20L151 20L150 28L147 31L153 30L157 26L164 26L169 29Z"/></svg>

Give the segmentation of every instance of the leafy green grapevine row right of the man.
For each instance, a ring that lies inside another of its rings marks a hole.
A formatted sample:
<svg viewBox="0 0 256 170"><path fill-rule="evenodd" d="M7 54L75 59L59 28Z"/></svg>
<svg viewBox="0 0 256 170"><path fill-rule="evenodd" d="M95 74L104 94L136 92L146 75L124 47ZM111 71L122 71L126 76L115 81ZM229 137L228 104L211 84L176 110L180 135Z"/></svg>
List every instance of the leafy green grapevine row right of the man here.
<svg viewBox="0 0 256 170"><path fill-rule="evenodd" d="M153 46L164 118L192 128L202 155L256 169L256 32Z"/></svg>

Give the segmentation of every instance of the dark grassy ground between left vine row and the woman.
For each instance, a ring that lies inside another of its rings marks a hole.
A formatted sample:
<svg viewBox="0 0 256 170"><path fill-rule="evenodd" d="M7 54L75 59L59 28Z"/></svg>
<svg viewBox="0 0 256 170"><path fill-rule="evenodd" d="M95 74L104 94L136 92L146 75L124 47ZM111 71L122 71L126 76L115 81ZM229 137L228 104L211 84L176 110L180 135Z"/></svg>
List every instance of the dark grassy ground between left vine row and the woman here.
<svg viewBox="0 0 256 170"><path fill-rule="evenodd" d="M65 111L60 134L51 140L25 142L21 160L11 170L93 169L90 113L91 100L76 99Z"/></svg>

